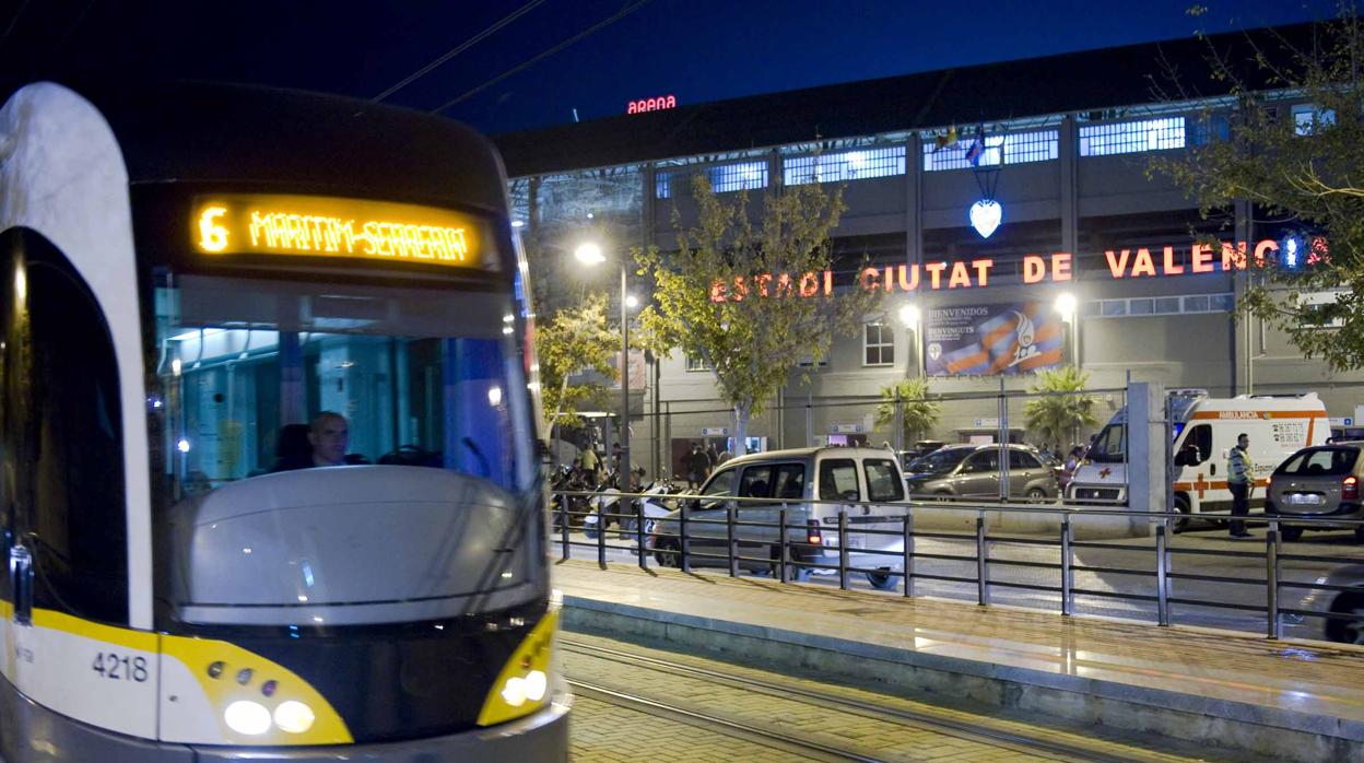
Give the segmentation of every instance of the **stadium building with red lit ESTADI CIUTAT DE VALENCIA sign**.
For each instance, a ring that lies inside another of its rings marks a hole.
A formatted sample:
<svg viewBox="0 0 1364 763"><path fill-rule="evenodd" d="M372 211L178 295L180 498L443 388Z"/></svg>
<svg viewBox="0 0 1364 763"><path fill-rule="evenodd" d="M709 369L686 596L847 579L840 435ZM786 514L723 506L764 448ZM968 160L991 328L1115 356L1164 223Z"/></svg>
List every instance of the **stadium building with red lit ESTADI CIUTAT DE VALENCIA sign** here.
<svg viewBox="0 0 1364 763"><path fill-rule="evenodd" d="M1273 33L1301 40L1311 27ZM1064 363L1105 390L1132 378L1228 396L1316 392L1331 416L1353 418L1364 375L1331 374L1234 313L1245 257L1305 263L1322 240L1244 202L1202 220L1150 171L1153 157L1229 135L1234 101L1207 75L1210 45L1233 59L1248 51L1237 33L711 104L663 93L622 104L615 117L496 143L551 307L584 289L619 292L619 270L582 273L580 242L611 257L674 246L674 212L683 225L694 220L692 173L719 192L844 187L833 236L846 269L833 285L884 289L885 313L835 341L817 369L792 374L752 422L753 445L881 444L893 438L874 423L874 399L896 379L928 375L932 392L951 396L997 393ZM1184 79L1166 78L1172 71ZM1274 97L1304 130L1320 116L1293 93ZM869 270L858 268L863 255ZM732 424L694 359L634 358L630 382L637 464L657 470L701 438L723 448ZM1098 399L1102 423L1123 400ZM1005 411L1012 437L1033 441L1020 414ZM932 434L988 438L1000 415L990 396L956 401Z"/></svg>

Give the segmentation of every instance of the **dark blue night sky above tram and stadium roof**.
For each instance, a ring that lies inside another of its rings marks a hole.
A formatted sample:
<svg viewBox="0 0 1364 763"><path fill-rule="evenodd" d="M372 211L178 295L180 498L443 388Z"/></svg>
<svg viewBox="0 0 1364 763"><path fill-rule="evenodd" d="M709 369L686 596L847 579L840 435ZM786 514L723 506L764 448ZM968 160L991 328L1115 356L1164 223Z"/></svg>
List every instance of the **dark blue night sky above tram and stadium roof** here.
<svg viewBox="0 0 1364 763"><path fill-rule="evenodd" d="M487 132L1026 59L1195 31L1330 18L1337 0L0 0L0 86L37 78L196 78L389 96ZM612 16L619 16L610 20ZM582 40L492 85L565 41ZM481 87L481 89L480 89ZM472 93L472 94L469 94Z"/></svg>

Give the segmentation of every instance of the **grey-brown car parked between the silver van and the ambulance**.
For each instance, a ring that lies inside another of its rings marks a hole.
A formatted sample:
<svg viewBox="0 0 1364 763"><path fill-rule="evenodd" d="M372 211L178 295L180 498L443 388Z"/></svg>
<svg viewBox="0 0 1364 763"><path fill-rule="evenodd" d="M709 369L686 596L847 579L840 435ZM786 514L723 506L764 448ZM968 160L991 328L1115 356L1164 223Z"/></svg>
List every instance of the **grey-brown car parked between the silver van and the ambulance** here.
<svg viewBox="0 0 1364 763"><path fill-rule="evenodd" d="M1027 445L1009 445L1009 498L1050 501L1060 494L1056 471ZM910 497L938 500L1000 497L1000 446L948 445L910 464Z"/></svg>

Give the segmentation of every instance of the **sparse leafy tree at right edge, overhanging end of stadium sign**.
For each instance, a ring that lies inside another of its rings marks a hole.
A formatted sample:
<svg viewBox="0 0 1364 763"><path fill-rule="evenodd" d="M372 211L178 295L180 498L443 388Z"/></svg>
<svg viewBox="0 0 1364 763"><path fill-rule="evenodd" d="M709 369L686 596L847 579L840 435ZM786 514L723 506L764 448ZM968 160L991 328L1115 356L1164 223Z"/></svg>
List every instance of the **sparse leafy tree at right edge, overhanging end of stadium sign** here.
<svg viewBox="0 0 1364 763"><path fill-rule="evenodd" d="M1195 10L1199 12L1202 10ZM1244 55L1249 52L1249 55ZM1236 201L1255 217L1299 228L1277 253L1239 253L1247 288L1239 310L1284 332L1333 371L1364 366L1364 27L1353 4L1311 40L1247 35L1239 53L1207 56L1236 100L1230 138L1158 158L1204 218ZM1294 113L1293 104L1307 102ZM1219 119L1209 112L1204 126ZM1301 243L1299 243L1301 242ZM1289 246L1293 253L1289 254ZM1335 292L1320 303L1309 293Z"/></svg>

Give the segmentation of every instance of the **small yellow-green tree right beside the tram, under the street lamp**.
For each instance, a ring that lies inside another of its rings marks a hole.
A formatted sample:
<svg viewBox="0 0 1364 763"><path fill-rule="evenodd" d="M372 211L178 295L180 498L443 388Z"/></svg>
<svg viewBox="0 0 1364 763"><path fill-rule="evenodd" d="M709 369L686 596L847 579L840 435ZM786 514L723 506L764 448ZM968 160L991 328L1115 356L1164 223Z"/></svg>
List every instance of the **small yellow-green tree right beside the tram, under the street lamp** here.
<svg viewBox="0 0 1364 763"><path fill-rule="evenodd" d="M548 325L536 332L547 429L580 424L581 405L599 408L606 403L606 385L569 382L574 374L589 370L606 378L618 375L615 358L621 337L607 329L606 310L604 295L588 296L577 307L559 310Z"/></svg>

